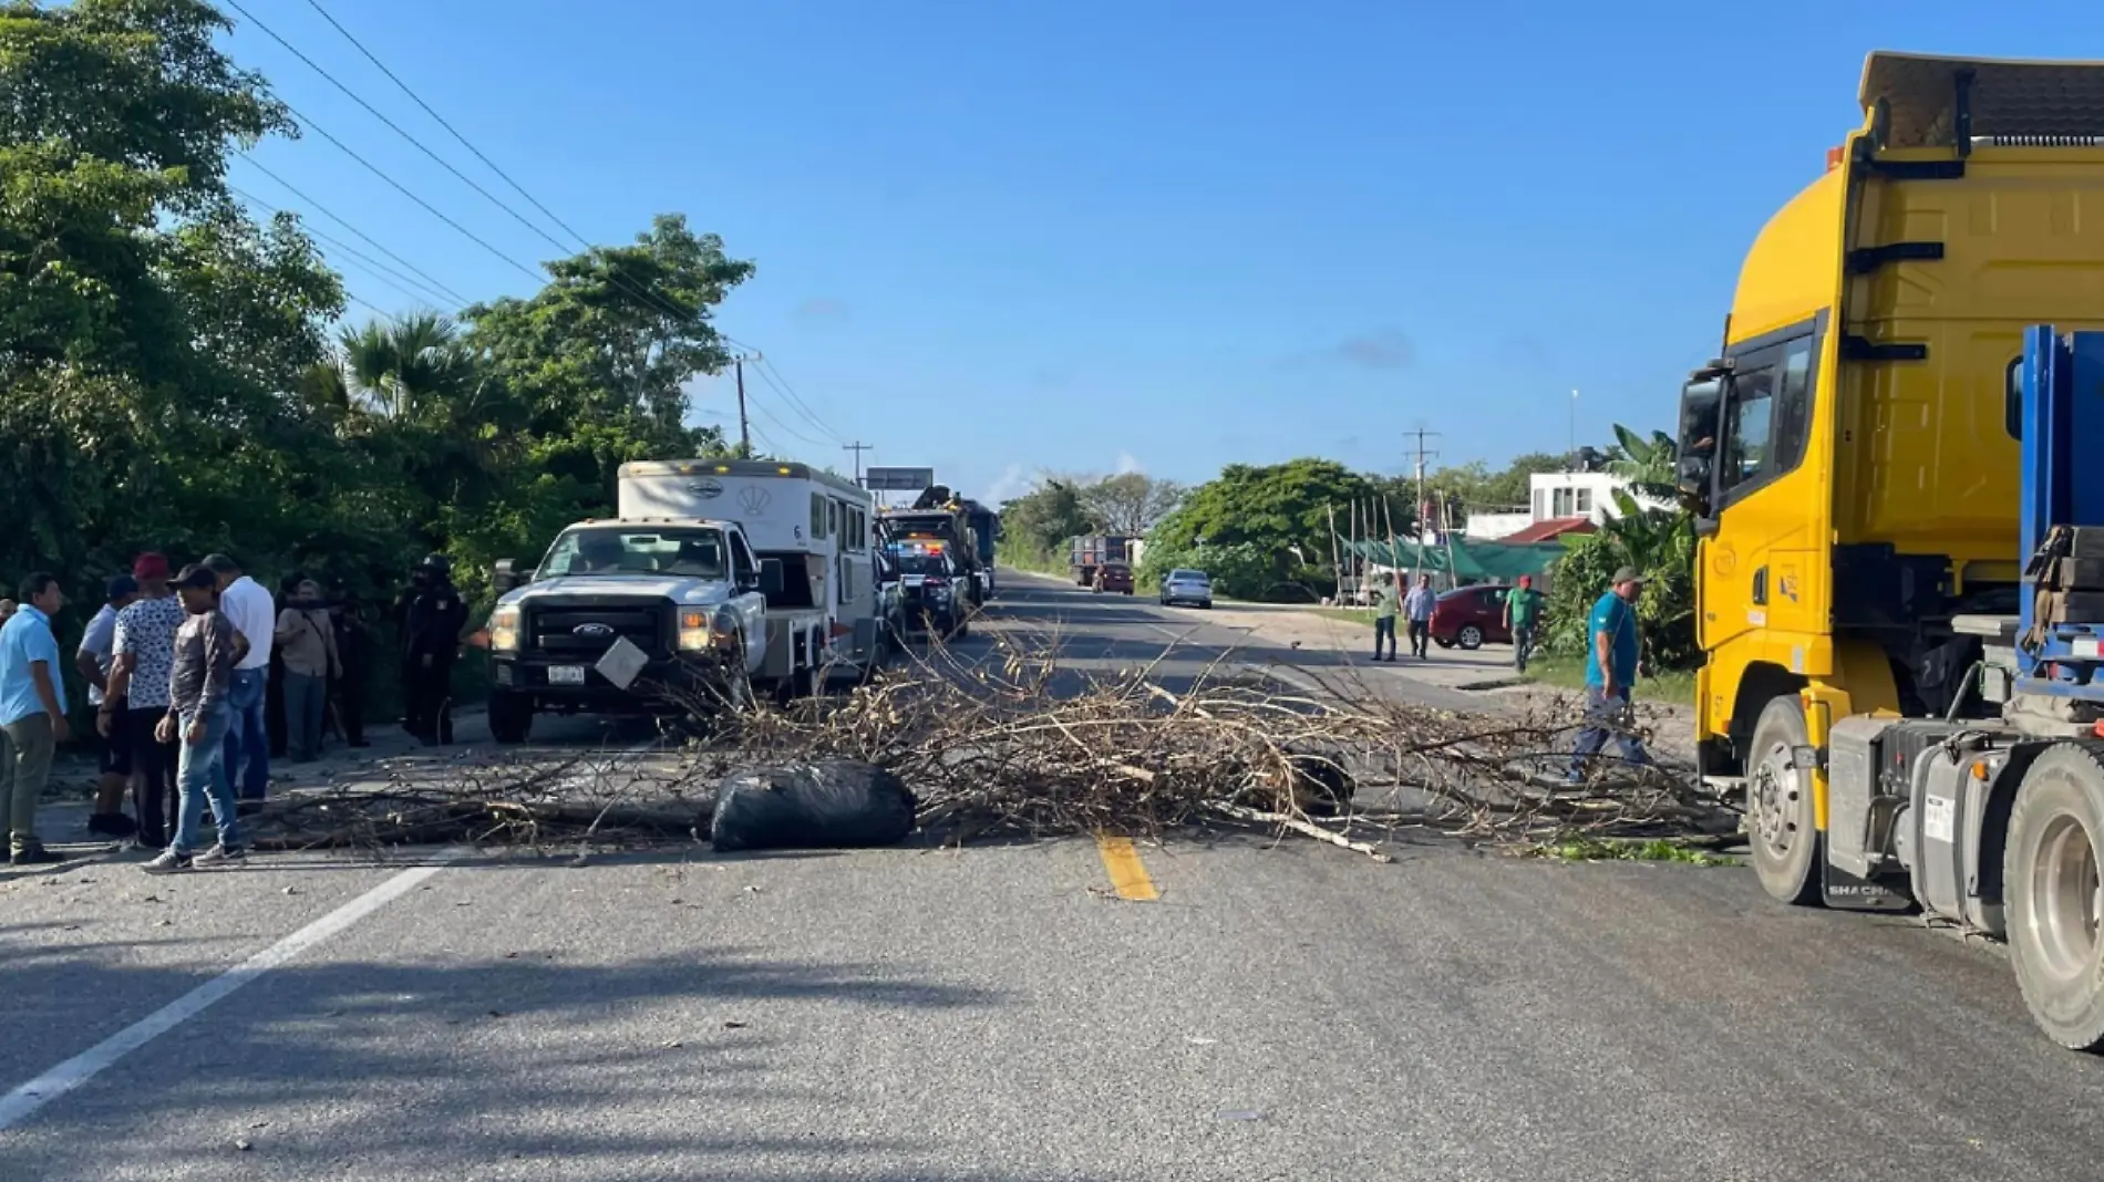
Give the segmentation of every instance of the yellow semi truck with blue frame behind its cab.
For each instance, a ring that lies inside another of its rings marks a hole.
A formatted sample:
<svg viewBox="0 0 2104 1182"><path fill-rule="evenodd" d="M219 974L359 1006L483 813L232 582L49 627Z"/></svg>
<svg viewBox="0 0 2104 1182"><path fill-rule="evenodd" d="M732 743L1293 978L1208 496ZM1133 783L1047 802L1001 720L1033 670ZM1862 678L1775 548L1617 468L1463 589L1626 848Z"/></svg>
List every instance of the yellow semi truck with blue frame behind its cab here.
<svg viewBox="0 0 2104 1182"><path fill-rule="evenodd" d="M2104 1047L2104 65L1873 53L1681 391L1702 778L1778 900L2007 940Z"/></svg>

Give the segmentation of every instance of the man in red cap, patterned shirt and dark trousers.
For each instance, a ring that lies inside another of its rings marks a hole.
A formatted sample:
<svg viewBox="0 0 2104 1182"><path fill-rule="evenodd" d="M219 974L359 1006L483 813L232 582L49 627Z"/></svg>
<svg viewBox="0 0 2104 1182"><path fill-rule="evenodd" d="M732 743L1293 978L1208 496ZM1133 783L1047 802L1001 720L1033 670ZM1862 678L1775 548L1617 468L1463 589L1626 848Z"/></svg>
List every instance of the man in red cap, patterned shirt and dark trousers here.
<svg viewBox="0 0 2104 1182"><path fill-rule="evenodd" d="M175 747L156 738L154 730L168 713L168 673L175 669L175 633L183 627L183 604L168 589L166 557L139 555L133 562L133 578L139 583L139 599L118 612L109 700L97 711L95 730L105 738L122 736L130 749L139 848L162 850L168 845Z"/></svg>

